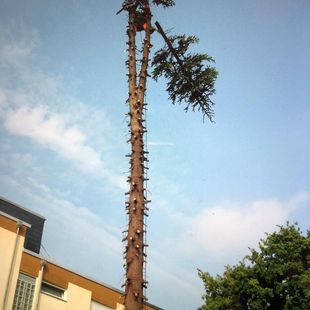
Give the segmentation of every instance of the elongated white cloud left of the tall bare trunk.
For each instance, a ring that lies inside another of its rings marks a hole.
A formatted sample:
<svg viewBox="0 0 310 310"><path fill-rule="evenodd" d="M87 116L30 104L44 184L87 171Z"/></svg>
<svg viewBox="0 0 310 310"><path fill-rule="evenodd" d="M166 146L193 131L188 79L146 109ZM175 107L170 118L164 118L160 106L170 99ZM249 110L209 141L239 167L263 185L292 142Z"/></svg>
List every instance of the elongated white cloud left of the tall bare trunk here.
<svg viewBox="0 0 310 310"><path fill-rule="evenodd" d="M82 131L69 126L61 115L51 114L42 106L21 106L8 110L4 116L4 127L10 134L28 137L76 162L86 171L104 171L99 153L86 144Z"/></svg>

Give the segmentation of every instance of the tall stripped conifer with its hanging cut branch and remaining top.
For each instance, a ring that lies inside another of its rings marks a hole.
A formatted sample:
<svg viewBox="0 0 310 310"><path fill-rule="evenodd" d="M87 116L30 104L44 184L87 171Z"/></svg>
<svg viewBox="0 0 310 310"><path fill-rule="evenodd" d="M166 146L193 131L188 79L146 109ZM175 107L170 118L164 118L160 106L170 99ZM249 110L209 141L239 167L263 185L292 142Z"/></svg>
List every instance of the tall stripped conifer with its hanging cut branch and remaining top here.
<svg viewBox="0 0 310 310"><path fill-rule="evenodd" d="M144 279L145 266L145 225L147 215L147 200L145 181L147 152L144 146L144 112L146 109L145 92L150 60L151 36L160 33L165 46L159 49L153 57L151 66L155 80L163 76L167 79L167 91L173 103L185 102L189 107L199 110L203 116L212 120L213 102L210 96L214 94L214 83L217 77L215 68L206 63L213 59L207 54L192 54L189 46L197 43L194 36L168 37L158 22L157 29L151 23L152 13L150 5L163 8L172 7L173 0L125 0L118 13L128 14L128 88L129 88L129 131L131 144L130 184L126 210L128 213L128 230L123 241L126 242L125 258L125 309L141 310L144 303L144 289L147 286ZM157 30L155 32L155 30ZM136 46L136 34L144 36L141 48Z"/></svg>

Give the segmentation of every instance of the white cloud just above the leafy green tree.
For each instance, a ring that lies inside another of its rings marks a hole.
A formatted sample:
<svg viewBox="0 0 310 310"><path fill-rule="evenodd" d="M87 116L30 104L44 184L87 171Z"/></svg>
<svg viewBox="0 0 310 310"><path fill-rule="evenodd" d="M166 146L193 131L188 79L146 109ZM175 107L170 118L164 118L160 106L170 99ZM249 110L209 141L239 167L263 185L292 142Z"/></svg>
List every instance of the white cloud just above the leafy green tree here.
<svg viewBox="0 0 310 310"><path fill-rule="evenodd" d="M303 193L287 202L269 199L206 208L188 219L180 240L191 253L204 251L221 258L238 253L244 255L247 247L256 247L265 232L284 224L294 210L307 202L310 202L310 195Z"/></svg>

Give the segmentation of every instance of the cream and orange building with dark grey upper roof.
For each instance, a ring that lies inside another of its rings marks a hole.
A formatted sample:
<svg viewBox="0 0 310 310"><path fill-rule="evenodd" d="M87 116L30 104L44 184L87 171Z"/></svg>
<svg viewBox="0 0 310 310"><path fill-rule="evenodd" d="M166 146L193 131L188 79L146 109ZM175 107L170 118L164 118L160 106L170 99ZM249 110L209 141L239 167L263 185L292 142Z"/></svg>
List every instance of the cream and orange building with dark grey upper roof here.
<svg viewBox="0 0 310 310"><path fill-rule="evenodd" d="M124 292L40 256L44 221L0 197L0 309L122 310Z"/></svg>

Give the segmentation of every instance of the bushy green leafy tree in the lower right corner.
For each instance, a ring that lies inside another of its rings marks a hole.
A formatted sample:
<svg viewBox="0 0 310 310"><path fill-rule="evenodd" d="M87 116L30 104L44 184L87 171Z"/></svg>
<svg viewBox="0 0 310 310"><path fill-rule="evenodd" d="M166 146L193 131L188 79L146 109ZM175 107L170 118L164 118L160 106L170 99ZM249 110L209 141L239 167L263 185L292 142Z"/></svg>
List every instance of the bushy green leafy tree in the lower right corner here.
<svg viewBox="0 0 310 310"><path fill-rule="evenodd" d="M310 231L279 226L222 276L198 270L205 286L200 310L306 310L310 305Z"/></svg>

